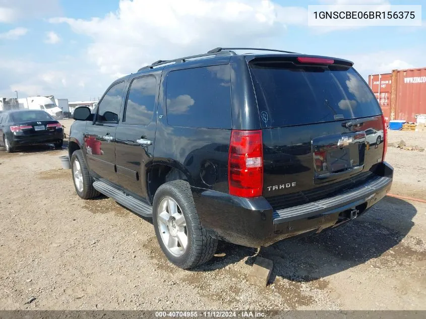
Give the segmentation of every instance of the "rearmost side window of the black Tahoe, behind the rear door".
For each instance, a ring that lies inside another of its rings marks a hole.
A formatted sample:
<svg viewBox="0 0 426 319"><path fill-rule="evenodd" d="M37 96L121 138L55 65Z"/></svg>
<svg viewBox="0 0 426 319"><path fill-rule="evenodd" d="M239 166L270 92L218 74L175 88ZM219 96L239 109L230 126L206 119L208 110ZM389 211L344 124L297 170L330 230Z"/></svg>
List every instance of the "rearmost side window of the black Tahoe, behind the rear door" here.
<svg viewBox="0 0 426 319"><path fill-rule="evenodd" d="M167 75L167 122L174 126L231 128L229 65Z"/></svg>

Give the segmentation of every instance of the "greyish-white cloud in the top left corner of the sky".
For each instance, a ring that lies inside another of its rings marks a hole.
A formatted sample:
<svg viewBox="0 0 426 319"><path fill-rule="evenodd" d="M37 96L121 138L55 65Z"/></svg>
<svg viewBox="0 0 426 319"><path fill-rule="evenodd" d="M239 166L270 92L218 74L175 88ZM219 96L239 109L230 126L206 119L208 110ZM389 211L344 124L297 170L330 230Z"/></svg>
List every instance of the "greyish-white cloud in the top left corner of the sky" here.
<svg viewBox="0 0 426 319"><path fill-rule="evenodd" d="M59 0L0 0L0 22L41 19L60 14Z"/></svg>

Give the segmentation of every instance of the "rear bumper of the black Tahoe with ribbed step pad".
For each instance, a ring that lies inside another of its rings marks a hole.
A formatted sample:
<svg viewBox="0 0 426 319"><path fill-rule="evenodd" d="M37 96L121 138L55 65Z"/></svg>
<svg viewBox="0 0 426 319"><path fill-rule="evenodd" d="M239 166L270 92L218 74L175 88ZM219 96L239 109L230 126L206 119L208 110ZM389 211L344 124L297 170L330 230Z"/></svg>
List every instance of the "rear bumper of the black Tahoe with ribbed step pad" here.
<svg viewBox="0 0 426 319"><path fill-rule="evenodd" d="M376 176L334 197L273 211L263 198L244 199L193 188L200 221L218 239L250 247L340 225L379 202L392 186L393 168L380 163ZM351 215L352 212L352 215Z"/></svg>

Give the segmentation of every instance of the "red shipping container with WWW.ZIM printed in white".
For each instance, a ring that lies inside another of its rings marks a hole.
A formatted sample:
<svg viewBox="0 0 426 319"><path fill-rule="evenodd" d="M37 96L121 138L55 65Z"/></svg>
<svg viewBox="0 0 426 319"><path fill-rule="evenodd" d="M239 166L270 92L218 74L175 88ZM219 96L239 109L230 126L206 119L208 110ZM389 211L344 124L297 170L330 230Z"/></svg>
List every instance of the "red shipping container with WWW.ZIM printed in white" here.
<svg viewBox="0 0 426 319"><path fill-rule="evenodd" d="M394 70L396 79L395 118L415 122L416 114L426 113L426 68Z"/></svg>

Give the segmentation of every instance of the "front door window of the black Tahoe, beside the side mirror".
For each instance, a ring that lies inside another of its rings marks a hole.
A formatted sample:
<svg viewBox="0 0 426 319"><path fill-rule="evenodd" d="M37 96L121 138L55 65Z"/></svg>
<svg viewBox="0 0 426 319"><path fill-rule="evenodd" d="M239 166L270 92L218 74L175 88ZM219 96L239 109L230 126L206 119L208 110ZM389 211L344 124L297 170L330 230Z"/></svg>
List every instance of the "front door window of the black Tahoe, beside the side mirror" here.
<svg viewBox="0 0 426 319"><path fill-rule="evenodd" d="M125 87L124 82L112 86L98 104L97 121L116 122L120 112L121 96Z"/></svg>

